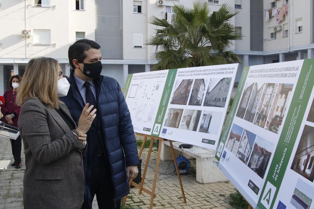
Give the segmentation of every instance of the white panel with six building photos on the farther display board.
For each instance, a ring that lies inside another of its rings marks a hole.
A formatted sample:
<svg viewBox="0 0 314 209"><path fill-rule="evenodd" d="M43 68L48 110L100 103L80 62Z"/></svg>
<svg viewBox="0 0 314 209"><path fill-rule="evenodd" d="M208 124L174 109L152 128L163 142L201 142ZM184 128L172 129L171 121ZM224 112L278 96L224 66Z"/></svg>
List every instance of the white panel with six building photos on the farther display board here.
<svg viewBox="0 0 314 209"><path fill-rule="evenodd" d="M237 64L178 69L160 137L215 149L236 69Z"/></svg>

